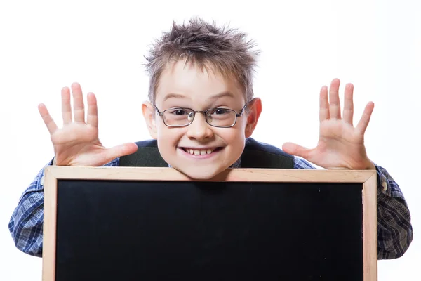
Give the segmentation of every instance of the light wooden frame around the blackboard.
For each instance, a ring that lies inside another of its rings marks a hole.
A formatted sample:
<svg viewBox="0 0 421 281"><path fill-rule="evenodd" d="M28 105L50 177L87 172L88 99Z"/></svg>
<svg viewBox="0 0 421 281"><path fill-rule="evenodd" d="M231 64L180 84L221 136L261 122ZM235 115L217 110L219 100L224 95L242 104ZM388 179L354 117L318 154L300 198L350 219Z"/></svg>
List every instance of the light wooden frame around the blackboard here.
<svg viewBox="0 0 421 281"><path fill-rule="evenodd" d="M191 178L172 168L46 167L42 268L44 281L55 280L57 183L61 179L192 181ZM208 181L363 184L363 280L377 280L377 173L375 170L228 169Z"/></svg>

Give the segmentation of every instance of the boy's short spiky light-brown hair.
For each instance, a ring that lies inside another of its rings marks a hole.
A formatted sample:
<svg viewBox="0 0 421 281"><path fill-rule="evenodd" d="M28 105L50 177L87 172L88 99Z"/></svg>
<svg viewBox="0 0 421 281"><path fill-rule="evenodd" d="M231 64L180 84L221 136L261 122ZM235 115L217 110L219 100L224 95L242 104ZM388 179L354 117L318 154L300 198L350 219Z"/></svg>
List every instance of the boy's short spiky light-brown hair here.
<svg viewBox="0 0 421 281"><path fill-rule="evenodd" d="M145 64L149 73L149 100L154 103L159 78L170 63L185 60L201 70L217 71L235 79L243 88L247 101L253 98L253 74L259 51L246 34L215 22L192 18L182 25L173 22L149 49Z"/></svg>

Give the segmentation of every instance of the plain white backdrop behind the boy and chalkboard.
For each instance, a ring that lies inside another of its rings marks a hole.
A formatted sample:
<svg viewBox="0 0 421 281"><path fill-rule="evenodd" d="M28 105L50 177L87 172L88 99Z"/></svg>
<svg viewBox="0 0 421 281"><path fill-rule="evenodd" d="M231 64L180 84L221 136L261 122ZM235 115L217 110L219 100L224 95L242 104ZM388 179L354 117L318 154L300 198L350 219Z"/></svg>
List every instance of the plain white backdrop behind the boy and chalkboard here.
<svg viewBox="0 0 421 281"><path fill-rule="evenodd" d="M355 86L354 122L373 100L368 155L401 186L415 230L402 258L378 262L379 280L421 280L420 12L417 0L1 1L0 280L41 280L41 259L20 253L8 233L18 198L53 157L37 105L60 124L60 89L79 81L97 95L105 145L149 138L143 55L173 20L193 15L239 27L262 50L259 141L316 145L319 89L335 77L341 93Z"/></svg>

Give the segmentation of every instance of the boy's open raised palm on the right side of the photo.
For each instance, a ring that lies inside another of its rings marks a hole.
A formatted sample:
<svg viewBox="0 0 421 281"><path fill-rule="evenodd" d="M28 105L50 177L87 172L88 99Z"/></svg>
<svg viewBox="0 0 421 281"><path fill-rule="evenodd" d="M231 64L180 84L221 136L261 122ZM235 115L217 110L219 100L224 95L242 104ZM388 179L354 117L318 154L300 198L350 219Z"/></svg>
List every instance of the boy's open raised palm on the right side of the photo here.
<svg viewBox="0 0 421 281"><path fill-rule="evenodd" d="M367 157L364 146L364 133L370 122L374 103L364 109L363 116L354 127L353 92L354 86L345 86L343 117L340 112L339 79L333 79L329 94L327 86L320 91L320 132L316 148L304 148L295 143L284 143L282 149L292 155L307 159L309 162L326 169L375 169Z"/></svg>

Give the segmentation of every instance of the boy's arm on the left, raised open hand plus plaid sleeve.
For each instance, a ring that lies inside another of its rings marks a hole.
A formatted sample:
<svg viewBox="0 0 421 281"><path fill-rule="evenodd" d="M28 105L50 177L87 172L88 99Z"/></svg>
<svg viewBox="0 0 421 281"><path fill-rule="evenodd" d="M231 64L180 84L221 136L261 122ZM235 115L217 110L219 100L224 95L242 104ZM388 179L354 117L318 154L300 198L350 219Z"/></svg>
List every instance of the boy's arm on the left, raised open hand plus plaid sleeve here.
<svg viewBox="0 0 421 281"><path fill-rule="evenodd" d="M98 138L98 106L95 95L88 93L88 110L85 114L81 86L72 84L73 108L68 87L62 96L63 126L58 128L44 104L38 106L39 114L50 132L54 148L54 164L59 166L118 166L119 157L129 155L138 146L135 143L105 148ZM114 160L113 160L114 159ZM48 165L53 164L50 162ZM45 167L44 167L45 168ZM44 169L20 197L13 211L9 230L16 247L33 256L42 255L42 226L44 222Z"/></svg>

